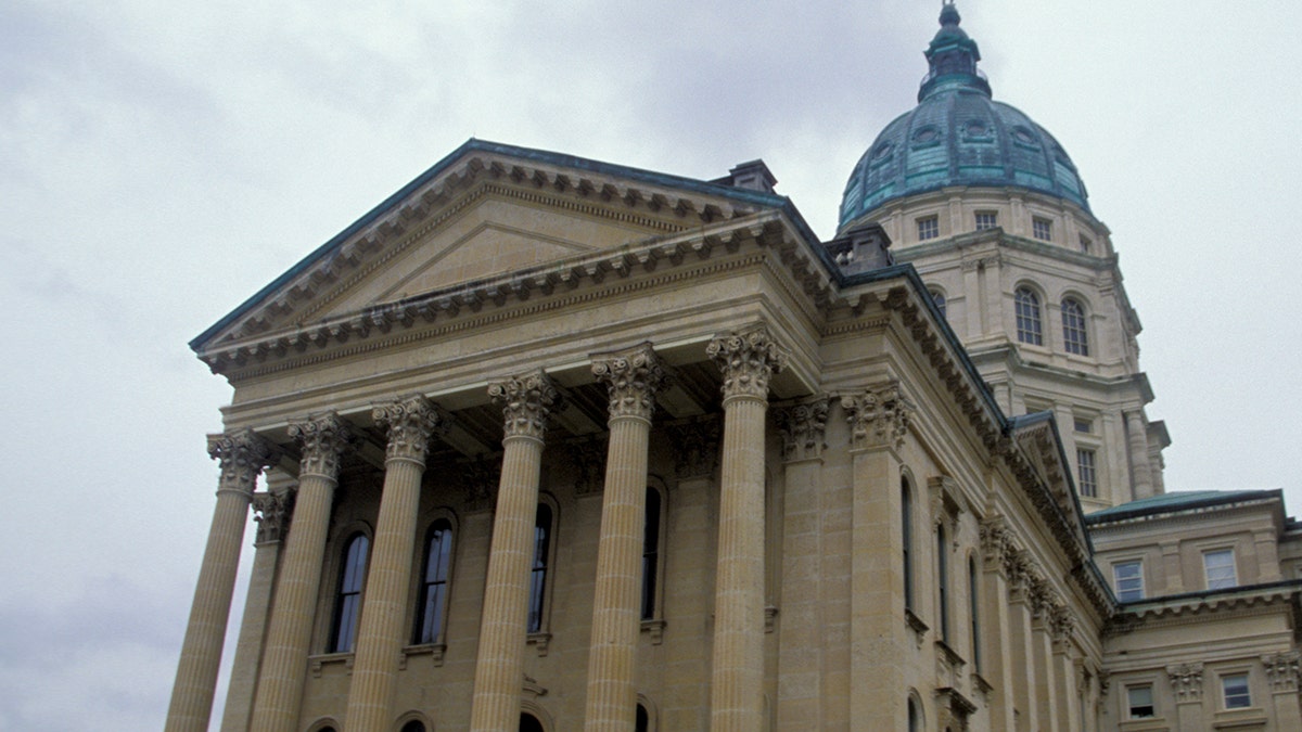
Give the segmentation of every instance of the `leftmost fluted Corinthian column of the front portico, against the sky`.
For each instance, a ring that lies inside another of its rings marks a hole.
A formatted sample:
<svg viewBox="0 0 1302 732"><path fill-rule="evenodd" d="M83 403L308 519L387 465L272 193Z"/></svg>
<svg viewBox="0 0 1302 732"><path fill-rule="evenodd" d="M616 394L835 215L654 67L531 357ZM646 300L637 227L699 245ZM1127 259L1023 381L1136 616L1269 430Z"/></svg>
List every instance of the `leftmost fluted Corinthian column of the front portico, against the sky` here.
<svg viewBox="0 0 1302 732"><path fill-rule="evenodd" d="M275 449L253 430L243 430L210 435L208 455L221 465L217 507L212 512L208 546L203 550L190 624L185 629L181 663L176 669L167 715L168 732L204 732L208 728L249 501L258 473L271 464Z"/></svg>

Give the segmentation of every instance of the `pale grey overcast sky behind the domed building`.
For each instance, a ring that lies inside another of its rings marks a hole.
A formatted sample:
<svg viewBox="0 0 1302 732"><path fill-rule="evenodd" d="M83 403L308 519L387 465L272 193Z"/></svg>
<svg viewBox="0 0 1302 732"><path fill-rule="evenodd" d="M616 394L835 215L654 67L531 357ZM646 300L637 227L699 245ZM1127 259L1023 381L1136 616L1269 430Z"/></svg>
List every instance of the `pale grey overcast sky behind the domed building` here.
<svg viewBox="0 0 1302 732"><path fill-rule="evenodd" d="M0 729L161 727L230 396L193 336L470 137L763 158L828 238L939 7L0 3ZM1302 3L958 7L1112 228L1168 490L1299 511Z"/></svg>

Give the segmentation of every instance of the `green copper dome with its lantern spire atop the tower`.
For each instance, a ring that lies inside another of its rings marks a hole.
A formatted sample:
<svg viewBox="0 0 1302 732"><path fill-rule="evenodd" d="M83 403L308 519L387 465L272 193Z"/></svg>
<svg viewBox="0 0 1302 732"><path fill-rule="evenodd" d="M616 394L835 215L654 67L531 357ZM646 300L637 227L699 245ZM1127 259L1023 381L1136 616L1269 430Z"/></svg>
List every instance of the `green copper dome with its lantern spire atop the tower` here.
<svg viewBox="0 0 1302 732"><path fill-rule="evenodd" d="M931 70L918 106L892 121L850 173L841 225L881 204L947 186L1021 188L1090 211L1085 184L1062 146L1019 109L991 99L976 42L952 1L926 51Z"/></svg>

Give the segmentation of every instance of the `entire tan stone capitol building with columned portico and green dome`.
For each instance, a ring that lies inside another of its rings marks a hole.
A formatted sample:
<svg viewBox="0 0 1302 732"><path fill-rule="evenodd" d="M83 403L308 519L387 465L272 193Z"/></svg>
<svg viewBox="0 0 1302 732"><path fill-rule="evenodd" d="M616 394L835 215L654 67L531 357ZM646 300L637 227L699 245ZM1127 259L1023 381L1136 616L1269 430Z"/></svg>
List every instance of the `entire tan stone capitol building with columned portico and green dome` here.
<svg viewBox="0 0 1302 732"><path fill-rule="evenodd" d="M945 3L829 241L762 160L470 139L195 337L167 729L1302 729L1302 525L1165 483L1111 232L979 61Z"/></svg>

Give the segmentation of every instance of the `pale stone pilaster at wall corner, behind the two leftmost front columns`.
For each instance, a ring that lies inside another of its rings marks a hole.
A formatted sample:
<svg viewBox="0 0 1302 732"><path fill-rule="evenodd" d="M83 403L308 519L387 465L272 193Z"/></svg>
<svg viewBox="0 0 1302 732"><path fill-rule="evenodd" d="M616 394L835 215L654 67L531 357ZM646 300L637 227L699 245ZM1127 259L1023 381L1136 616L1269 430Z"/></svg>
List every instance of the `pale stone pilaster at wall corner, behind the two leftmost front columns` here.
<svg viewBox="0 0 1302 732"><path fill-rule="evenodd" d="M258 538L253 544L253 572L249 576L243 619L240 621L236 659L230 664L230 686L227 689L227 709L221 714L221 732L247 732L253 718L254 694L271 617L271 595L292 504L293 494L264 492L253 496L253 509L259 514L255 517Z"/></svg>

